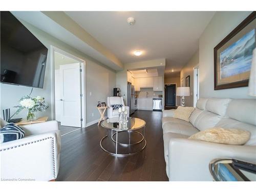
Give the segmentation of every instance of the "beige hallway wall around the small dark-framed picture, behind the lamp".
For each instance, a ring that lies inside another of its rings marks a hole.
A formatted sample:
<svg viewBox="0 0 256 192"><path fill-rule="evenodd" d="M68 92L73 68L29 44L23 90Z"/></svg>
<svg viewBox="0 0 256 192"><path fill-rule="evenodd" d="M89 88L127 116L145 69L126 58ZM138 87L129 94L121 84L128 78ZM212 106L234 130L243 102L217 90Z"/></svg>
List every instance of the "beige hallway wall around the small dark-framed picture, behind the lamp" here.
<svg viewBox="0 0 256 192"><path fill-rule="evenodd" d="M185 106L193 106L193 89L194 89L194 67L199 65L199 50L190 58L188 63L182 68L180 72L180 79L184 78L184 86L186 77L190 76L190 96L185 97Z"/></svg>

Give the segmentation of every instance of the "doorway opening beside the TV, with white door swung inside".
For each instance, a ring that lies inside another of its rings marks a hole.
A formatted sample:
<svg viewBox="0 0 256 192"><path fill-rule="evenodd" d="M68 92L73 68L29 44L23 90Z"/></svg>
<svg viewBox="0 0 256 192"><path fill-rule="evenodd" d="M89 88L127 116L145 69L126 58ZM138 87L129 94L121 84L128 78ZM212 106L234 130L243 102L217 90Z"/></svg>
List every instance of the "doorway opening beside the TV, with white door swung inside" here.
<svg viewBox="0 0 256 192"><path fill-rule="evenodd" d="M54 119L61 136L86 127L84 61L54 48Z"/></svg>

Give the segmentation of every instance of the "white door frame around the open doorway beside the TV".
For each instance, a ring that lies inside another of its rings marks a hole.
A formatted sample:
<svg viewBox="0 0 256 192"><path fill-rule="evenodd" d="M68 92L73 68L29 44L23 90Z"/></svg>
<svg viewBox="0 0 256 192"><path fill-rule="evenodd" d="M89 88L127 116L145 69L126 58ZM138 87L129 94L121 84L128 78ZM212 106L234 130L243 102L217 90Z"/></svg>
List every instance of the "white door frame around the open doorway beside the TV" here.
<svg viewBox="0 0 256 192"><path fill-rule="evenodd" d="M82 128L86 127L86 61L74 56L66 51L63 51L57 47L51 46L51 82L52 82L52 94L51 94L51 100L52 100L52 119L55 120L55 79L54 79L54 52L60 53L62 55L65 55L67 57L70 57L72 59L77 60L80 63L81 67L81 118L82 118Z"/></svg>

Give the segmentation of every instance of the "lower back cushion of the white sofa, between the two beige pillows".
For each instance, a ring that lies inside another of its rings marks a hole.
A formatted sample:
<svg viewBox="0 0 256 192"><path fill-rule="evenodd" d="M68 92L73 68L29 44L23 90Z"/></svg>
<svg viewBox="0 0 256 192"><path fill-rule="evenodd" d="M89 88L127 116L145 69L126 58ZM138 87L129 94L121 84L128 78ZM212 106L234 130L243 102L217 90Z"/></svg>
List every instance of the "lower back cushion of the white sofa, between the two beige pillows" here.
<svg viewBox="0 0 256 192"><path fill-rule="evenodd" d="M196 119L194 126L200 130L204 131L206 129L215 127L215 125L221 120L221 117L215 113L208 111L203 111Z"/></svg>

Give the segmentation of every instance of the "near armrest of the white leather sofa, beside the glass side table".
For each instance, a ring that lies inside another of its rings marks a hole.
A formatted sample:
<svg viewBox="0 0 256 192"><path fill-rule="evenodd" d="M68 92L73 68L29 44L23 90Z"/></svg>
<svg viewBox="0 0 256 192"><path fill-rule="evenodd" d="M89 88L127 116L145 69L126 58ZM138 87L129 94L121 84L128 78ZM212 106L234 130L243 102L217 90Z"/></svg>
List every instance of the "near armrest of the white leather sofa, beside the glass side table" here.
<svg viewBox="0 0 256 192"><path fill-rule="evenodd" d="M256 162L256 147L174 138L169 143L169 180L212 181L209 162L217 158Z"/></svg>

